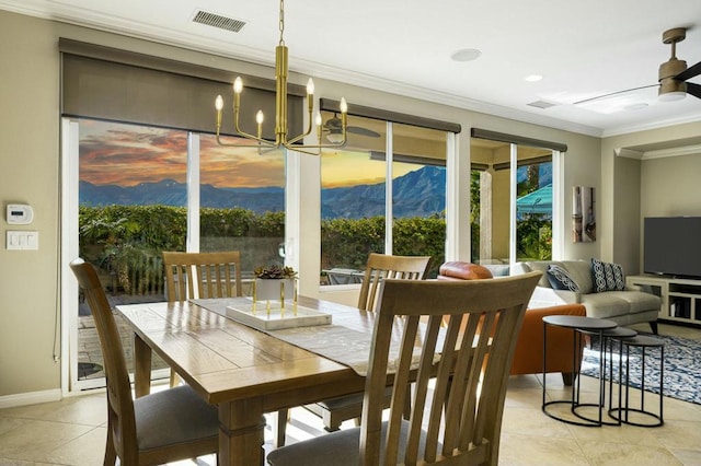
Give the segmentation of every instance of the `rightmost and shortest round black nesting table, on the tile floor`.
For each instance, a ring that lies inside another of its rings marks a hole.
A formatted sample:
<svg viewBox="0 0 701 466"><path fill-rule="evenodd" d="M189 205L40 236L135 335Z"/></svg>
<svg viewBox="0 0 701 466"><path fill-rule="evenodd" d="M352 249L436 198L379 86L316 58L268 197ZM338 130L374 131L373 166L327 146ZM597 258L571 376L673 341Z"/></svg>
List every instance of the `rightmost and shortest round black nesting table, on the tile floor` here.
<svg viewBox="0 0 701 466"><path fill-rule="evenodd" d="M619 407L610 407L609 416L618 419L620 422L637 426L637 427L659 427L665 423L663 418L663 388L664 388L664 375L665 375L665 343L659 338L647 337L639 335L634 338L622 340L625 347L625 404L622 405L619 398ZM640 408L630 407L630 350L631 347L640 348L641 351L641 387L640 387ZM659 350L659 406L657 412L645 408L645 350L650 348L656 348ZM621 352L621 358L623 353ZM621 384L623 380L621 377ZM631 413L637 413L635 419L641 418L640 421L632 420ZM651 422L643 422L642 418L652 419Z"/></svg>

